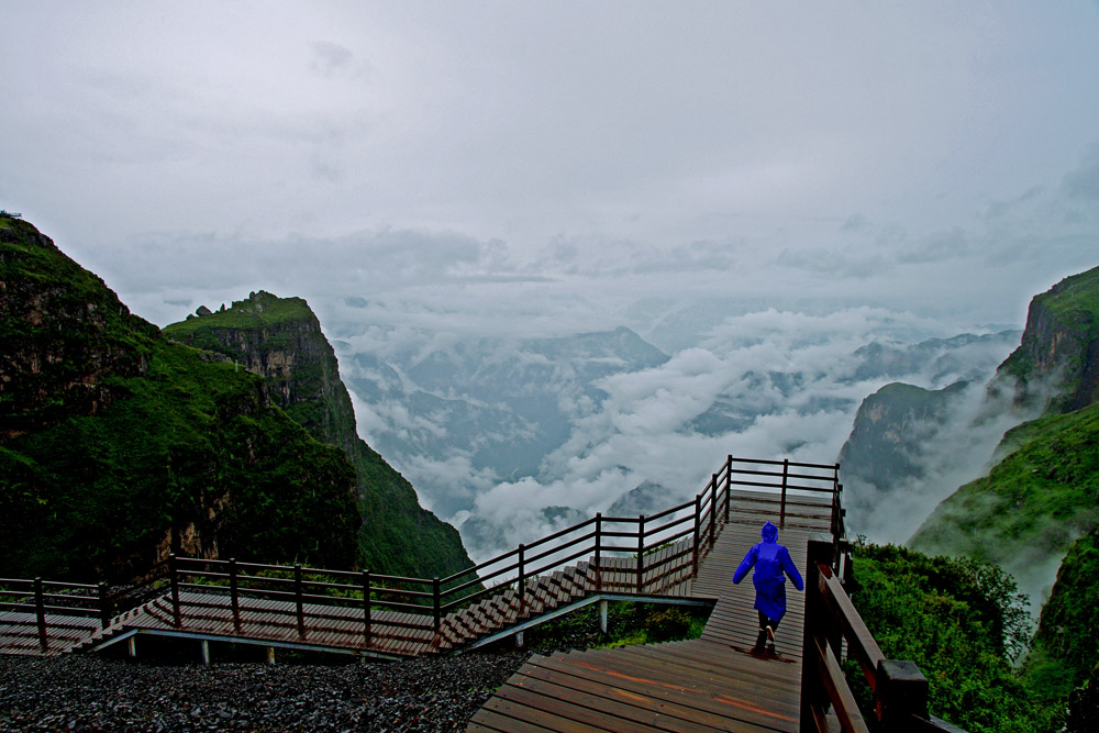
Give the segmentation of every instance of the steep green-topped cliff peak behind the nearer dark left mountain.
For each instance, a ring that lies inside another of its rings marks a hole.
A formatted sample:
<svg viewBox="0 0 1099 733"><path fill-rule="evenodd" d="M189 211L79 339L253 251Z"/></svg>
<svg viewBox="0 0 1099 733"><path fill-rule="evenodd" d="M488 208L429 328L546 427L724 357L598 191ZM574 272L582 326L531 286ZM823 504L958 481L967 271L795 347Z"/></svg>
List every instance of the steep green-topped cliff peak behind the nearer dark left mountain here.
<svg viewBox="0 0 1099 733"><path fill-rule="evenodd" d="M364 567L442 577L473 565L457 531L422 509L411 485L358 437L335 353L306 301L254 292L165 333L262 375L287 414L321 443L343 449L357 477Z"/></svg>

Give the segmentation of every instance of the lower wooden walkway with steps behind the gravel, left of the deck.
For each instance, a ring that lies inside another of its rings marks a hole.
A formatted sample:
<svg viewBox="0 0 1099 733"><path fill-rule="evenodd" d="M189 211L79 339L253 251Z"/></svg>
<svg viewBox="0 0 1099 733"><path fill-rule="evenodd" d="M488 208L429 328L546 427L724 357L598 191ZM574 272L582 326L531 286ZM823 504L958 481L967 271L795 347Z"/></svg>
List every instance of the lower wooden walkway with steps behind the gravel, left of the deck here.
<svg viewBox="0 0 1099 733"><path fill-rule="evenodd" d="M689 541L664 547L646 559L642 576L648 597L687 597L692 582ZM663 563L665 558L674 562ZM662 564L663 563L663 564ZM0 653L35 656L101 648L135 634L184 636L213 642L243 642L291 648L345 652L397 659L444 653L484 643L509 630L590 602L604 595L639 592L632 558L603 557L601 571L589 562L528 578L522 596L515 587L442 617L439 629L430 609L406 613L374 609L367 621L362 603L303 603L303 623L291 600L241 592L233 599L218 586L187 586L179 592L179 618L170 593L134 608L106 626L98 619L47 614L47 645L41 645L33 613L0 615Z"/></svg>

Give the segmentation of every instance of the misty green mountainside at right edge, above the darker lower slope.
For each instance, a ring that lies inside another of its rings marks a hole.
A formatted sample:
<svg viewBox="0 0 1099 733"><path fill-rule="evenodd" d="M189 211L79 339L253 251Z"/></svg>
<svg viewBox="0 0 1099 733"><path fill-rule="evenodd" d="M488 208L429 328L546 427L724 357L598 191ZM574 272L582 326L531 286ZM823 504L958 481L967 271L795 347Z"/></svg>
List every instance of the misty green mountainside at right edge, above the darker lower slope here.
<svg viewBox="0 0 1099 733"><path fill-rule="evenodd" d="M1022 342L991 389L1046 413L1003 436L991 473L957 490L912 537L924 552L974 554L1024 571L1063 555L1099 521L1099 267L1066 278L1031 302ZM1090 491L1090 493L1089 493Z"/></svg>

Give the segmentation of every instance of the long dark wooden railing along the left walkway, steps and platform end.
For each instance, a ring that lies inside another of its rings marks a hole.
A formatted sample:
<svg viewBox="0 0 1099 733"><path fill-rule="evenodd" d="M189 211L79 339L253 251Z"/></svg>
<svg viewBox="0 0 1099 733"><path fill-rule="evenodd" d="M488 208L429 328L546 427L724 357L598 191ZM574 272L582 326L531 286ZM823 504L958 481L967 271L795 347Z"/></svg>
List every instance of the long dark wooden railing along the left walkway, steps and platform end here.
<svg viewBox="0 0 1099 733"><path fill-rule="evenodd" d="M407 614L403 621L390 625L406 625L414 630L439 631L447 614L457 612L487 597L512 590L524 601L529 582L540 575L551 573L582 558L586 573L590 574L596 592L645 596L662 587L669 574L679 573L689 563L690 576L698 571L698 563L713 546L719 523L728 521L755 521L774 517L776 497L779 503L779 523L797 522L800 512L810 507L819 508L820 499L813 496L830 495L832 517L830 526L833 544L843 536L843 512L839 482L839 465L807 464L790 460L754 460L728 456L718 473L691 501L677 504L650 517L593 518L555 532L530 544L485 560L471 568L444 578L413 578L373 574L370 570L348 571L308 568L301 565L263 565L241 563L236 559L213 560L170 556L152 568L133 586L106 592L103 586L77 584L49 584L43 588L67 586L64 593L71 593L73 613L98 614L103 624L121 613L167 590L173 622L182 624L187 609L201 612L206 606L223 608L224 602L207 602L195 593L227 595L233 609L234 625L240 629L241 598L259 598L287 601L273 607L275 625L297 628L304 636L312 622L333 618L333 607L355 607L362 610L363 634L371 635L374 617L379 611ZM673 552L656 552L671 547ZM688 558L689 556L689 558ZM604 576L613 571L615 578L632 573L634 580L624 587L621 581L610 588ZM23 597L33 596L35 581L8 581L20 586ZM14 587L14 586L12 586ZM77 592L79 591L79 592ZM190 593L184 600L180 593ZM81 596L82 593L82 596ZM9 596L11 593L8 593ZM40 593L37 624L48 626L47 617L54 613L46 608L51 600ZM66 598L70 596L66 595ZM79 606L78 603L82 603ZM31 610L34 604L20 608ZM77 610L80 609L80 610ZM326 610L329 609L329 610ZM346 611L340 614L346 620ZM411 620L409 620L411 619ZM45 638L46 632L42 635ZM45 642L43 642L45 649Z"/></svg>

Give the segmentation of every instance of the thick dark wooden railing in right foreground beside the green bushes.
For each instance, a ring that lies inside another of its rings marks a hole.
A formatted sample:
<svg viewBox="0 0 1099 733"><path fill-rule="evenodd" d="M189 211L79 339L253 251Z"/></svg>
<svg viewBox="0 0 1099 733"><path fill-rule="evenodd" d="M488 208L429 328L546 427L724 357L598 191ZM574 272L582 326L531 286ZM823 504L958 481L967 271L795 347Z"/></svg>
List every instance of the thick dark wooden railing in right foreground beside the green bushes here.
<svg viewBox="0 0 1099 733"><path fill-rule="evenodd" d="M810 538L806 563L804 656L801 679L801 730L830 730L825 714L835 713L844 733L870 730L918 733L961 729L928 713L928 680L912 662L887 659L878 647L840 581L850 569L850 557L836 564L836 543L821 536ZM874 713L868 724L858 710L843 669L842 644L854 659L874 693Z"/></svg>

